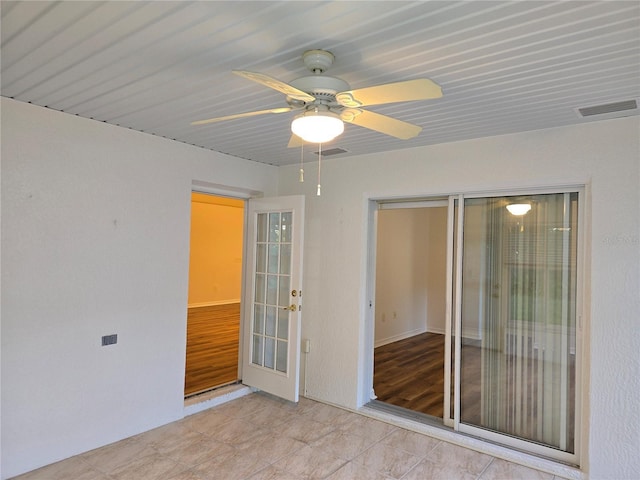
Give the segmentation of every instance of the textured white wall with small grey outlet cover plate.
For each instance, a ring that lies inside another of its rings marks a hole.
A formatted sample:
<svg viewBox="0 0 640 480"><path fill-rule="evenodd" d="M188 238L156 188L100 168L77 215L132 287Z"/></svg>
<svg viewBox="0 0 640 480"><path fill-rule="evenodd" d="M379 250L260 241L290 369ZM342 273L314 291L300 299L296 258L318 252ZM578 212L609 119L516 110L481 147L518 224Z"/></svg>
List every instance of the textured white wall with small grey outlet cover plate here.
<svg viewBox="0 0 640 480"><path fill-rule="evenodd" d="M1 106L8 478L182 418L192 181L271 195L277 169Z"/></svg>

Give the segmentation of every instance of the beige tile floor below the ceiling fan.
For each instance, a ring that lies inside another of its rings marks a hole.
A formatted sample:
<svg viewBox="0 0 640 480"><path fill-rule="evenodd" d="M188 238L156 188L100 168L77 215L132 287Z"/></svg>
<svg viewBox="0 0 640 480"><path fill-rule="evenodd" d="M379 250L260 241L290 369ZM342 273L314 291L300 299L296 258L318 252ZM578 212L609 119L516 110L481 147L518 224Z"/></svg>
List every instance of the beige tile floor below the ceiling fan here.
<svg viewBox="0 0 640 480"><path fill-rule="evenodd" d="M312 400L258 393L16 479L559 480Z"/></svg>

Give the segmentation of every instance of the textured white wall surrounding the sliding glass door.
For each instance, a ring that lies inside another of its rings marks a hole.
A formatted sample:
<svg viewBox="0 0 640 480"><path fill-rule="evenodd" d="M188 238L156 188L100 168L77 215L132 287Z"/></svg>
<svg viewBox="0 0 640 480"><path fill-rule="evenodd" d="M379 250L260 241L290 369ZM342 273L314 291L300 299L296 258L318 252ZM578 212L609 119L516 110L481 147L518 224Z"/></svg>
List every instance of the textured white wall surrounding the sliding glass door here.
<svg viewBox="0 0 640 480"><path fill-rule="evenodd" d="M352 408L367 401L369 198L587 184L582 464L594 479L639 477L639 131L631 117L325 159L321 197L315 182L298 183L298 167L281 168L280 193L307 195L309 395Z"/></svg>

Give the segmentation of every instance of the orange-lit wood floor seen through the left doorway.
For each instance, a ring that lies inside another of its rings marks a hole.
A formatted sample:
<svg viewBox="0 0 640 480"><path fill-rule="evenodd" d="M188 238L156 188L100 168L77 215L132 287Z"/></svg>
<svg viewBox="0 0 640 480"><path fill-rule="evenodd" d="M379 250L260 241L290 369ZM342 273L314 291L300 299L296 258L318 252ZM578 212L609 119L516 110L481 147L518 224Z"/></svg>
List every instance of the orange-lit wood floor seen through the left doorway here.
<svg viewBox="0 0 640 480"><path fill-rule="evenodd" d="M240 304L189 308L184 394L238 380Z"/></svg>

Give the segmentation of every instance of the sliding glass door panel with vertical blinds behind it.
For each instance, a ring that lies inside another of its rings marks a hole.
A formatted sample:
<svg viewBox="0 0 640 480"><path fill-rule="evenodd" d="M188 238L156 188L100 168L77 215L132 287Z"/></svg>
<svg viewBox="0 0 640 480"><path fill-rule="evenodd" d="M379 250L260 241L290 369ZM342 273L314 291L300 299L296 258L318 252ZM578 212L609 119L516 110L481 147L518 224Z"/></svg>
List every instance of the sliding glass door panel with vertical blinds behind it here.
<svg viewBox="0 0 640 480"><path fill-rule="evenodd" d="M454 423L573 461L578 193L464 198L463 205Z"/></svg>

